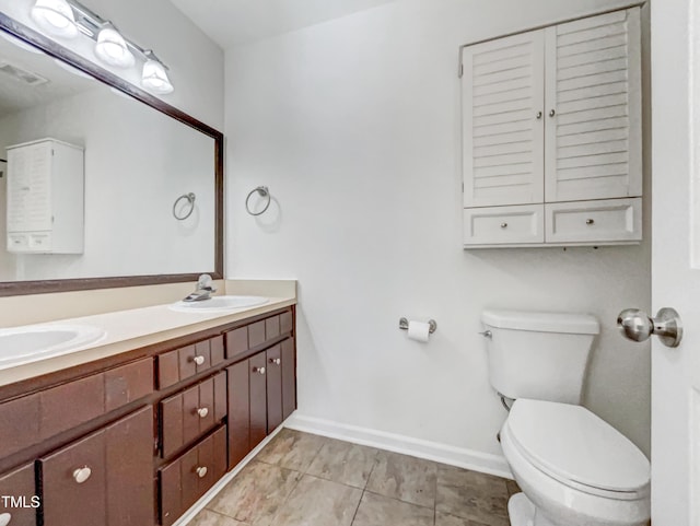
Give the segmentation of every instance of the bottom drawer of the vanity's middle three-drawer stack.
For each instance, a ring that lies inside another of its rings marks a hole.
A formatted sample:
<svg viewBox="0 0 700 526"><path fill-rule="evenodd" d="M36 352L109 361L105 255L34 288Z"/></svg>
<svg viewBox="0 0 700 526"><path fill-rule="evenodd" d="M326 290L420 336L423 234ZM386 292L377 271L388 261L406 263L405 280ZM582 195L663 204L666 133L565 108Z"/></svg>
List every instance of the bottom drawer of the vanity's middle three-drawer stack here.
<svg viewBox="0 0 700 526"><path fill-rule="evenodd" d="M171 526L226 472L226 428L159 470L161 524Z"/></svg>

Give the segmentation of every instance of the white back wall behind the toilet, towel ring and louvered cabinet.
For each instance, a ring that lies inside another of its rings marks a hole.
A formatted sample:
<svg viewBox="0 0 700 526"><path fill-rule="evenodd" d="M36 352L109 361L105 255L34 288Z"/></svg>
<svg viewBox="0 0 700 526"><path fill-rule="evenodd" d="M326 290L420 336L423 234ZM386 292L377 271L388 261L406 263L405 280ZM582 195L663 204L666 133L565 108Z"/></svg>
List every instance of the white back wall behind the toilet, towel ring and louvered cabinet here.
<svg viewBox="0 0 700 526"><path fill-rule="evenodd" d="M402 0L226 51L228 277L299 279L301 413L499 455L479 314L590 312L586 405L649 453L649 346L615 327L650 306L649 231L597 250L460 242L458 46L615 5ZM275 203L256 220L258 185ZM434 318L430 343L401 316Z"/></svg>

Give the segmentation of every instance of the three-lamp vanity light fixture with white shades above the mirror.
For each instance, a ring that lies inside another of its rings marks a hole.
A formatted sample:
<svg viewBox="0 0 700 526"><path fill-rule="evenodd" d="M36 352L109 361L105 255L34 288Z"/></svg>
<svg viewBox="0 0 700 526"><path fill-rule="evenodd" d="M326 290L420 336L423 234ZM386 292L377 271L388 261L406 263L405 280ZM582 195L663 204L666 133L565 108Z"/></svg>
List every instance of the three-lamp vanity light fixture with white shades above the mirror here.
<svg viewBox="0 0 700 526"><path fill-rule="evenodd" d="M152 50L125 38L114 23L78 0L36 0L32 19L51 35L74 38L82 33L95 42L95 56L108 66L142 68L141 85L152 93L166 95L175 90L167 77L167 67Z"/></svg>

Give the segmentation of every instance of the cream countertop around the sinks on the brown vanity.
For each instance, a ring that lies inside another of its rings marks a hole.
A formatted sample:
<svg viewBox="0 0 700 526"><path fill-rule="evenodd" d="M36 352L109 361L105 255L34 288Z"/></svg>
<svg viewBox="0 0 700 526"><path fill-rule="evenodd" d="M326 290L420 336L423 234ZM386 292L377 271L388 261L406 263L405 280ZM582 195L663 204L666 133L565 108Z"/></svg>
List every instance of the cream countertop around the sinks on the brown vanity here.
<svg viewBox="0 0 700 526"><path fill-rule="evenodd" d="M289 291L284 291L283 294L278 296L268 297L269 302L264 305L229 309L225 312L184 313L173 311L168 307L170 304L165 304L42 324L44 326L86 325L104 330L105 336L95 342L72 349L62 355L42 359L36 362L2 370L0 371L0 385L12 384L22 379L113 356L121 352L131 351L296 304L295 293L293 294Z"/></svg>

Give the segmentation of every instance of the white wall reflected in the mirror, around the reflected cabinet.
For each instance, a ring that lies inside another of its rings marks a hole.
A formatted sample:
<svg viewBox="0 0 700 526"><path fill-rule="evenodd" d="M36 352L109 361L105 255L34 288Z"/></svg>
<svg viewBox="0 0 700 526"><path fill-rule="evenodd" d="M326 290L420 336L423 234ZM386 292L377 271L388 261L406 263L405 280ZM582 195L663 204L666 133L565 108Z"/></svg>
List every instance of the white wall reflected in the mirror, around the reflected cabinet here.
<svg viewBox="0 0 700 526"><path fill-rule="evenodd" d="M46 137L84 148L84 253L10 254L3 218L0 281L213 269L214 140L100 83L85 83L92 84L88 91L0 119L0 156L9 145ZM5 186L7 178L0 179L3 217ZM195 210L177 221L173 203L189 192L197 196Z"/></svg>

